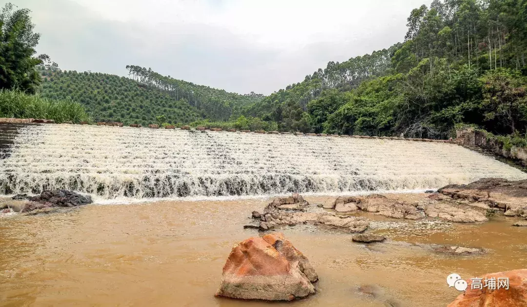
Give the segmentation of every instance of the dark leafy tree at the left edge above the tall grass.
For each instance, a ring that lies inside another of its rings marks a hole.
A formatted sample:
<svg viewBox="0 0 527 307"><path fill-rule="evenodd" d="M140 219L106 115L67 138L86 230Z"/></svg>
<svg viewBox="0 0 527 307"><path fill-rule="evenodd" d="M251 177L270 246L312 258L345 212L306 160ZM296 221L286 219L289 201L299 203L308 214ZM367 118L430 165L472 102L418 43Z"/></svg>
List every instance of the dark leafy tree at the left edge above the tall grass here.
<svg viewBox="0 0 527 307"><path fill-rule="evenodd" d="M40 34L33 33L29 13L28 9L14 10L11 3L0 11L0 89L34 93L40 84L35 65L48 57L33 57Z"/></svg>

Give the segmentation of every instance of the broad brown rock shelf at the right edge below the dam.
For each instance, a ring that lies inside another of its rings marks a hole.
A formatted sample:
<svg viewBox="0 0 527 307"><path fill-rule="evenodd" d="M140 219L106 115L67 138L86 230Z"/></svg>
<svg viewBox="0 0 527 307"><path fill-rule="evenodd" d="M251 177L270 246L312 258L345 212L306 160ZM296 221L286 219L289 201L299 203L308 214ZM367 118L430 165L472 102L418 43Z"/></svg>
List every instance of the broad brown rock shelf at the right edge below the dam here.
<svg viewBox="0 0 527 307"><path fill-rule="evenodd" d="M454 199L485 203L506 212L512 210L509 216L513 213L518 216L527 214L527 180L484 178L468 185L448 185L438 191Z"/></svg>

